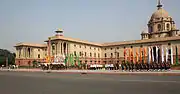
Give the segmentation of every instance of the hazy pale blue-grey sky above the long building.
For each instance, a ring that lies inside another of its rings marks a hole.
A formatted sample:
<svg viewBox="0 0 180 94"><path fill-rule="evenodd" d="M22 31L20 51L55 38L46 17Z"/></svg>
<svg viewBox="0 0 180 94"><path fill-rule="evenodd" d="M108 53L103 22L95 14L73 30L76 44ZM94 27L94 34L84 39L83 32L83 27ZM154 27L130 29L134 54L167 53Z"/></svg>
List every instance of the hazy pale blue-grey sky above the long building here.
<svg viewBox="0 0 180 94"><path fill-rule="evenodd" d="M180 1L162 0L180 28ZM157 0L0 0L0 48L44 43L57 28L94 42L140 39Z"/></svg>

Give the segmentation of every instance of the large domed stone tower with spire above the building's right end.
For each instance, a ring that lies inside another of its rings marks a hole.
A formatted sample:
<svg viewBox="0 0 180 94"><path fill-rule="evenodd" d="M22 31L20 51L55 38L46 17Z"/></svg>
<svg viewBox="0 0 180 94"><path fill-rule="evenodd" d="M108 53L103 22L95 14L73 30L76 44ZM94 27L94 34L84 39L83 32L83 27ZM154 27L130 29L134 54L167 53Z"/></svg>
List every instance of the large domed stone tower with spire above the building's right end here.
<svg viewBox="0 0 180 94"><path fill-rule="evenodd" d="M179 36L175 22L168 12L162 8L158 0L157 10L152 14L148 22L149 38Z"/></svg>

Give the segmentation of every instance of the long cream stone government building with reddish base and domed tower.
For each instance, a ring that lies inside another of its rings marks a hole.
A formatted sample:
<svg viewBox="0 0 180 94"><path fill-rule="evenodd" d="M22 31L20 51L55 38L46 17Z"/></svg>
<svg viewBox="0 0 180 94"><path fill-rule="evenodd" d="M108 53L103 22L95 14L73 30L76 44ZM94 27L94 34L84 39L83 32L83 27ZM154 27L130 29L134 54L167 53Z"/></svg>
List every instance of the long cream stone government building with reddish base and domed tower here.
<svg viewBox="0 0 180 94"><path fill-rule="evenodd" d="M147 28L140 34L140 40L110 43L94 43L68 38L63 35L62 29L58 29L54 36L44 41L44 44L17 43L15 45L16 64L27 66L32 65L34 60L46 62L47 56L70 54L78 55L80 63L86 64L141 62L142 57L145 63L170 61L174 64L180 47L180 33L175 21L163 9L160 1L157 10L149 19Z"/></svg>

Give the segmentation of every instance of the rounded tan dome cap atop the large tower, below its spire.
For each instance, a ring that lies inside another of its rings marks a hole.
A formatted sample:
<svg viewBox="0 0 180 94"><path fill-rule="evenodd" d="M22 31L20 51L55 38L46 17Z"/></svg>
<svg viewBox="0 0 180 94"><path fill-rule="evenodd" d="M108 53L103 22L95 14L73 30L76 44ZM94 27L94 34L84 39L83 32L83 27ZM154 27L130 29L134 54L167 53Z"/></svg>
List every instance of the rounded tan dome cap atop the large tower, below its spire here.
<svg viewBox="0 0 180 94"><path fill-rule="evenodd" d="M170 17L168 12L166 10L164 10L163 8L159 8L157 11L155 11L152 16L151 19L155 19L155 18L168 18Z"/></svg>

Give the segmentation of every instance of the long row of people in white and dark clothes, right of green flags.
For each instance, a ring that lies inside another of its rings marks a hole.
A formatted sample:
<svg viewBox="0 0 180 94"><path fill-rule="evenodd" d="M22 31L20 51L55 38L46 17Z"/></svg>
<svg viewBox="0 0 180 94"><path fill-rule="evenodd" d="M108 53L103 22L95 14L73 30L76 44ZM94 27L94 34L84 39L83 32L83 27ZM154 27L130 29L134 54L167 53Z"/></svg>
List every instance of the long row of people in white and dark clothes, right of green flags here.
<svg viewBox="0 0 180 94"><path fill-rule="evenodd" d="M122 71L162 71L162 70L170 70L171 63L122 63L122 64L104 64L98 65L93 64L90 65L88 69L91 70L122 70Z"/></svg>

